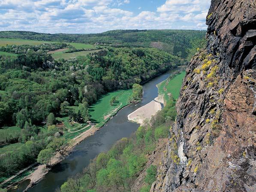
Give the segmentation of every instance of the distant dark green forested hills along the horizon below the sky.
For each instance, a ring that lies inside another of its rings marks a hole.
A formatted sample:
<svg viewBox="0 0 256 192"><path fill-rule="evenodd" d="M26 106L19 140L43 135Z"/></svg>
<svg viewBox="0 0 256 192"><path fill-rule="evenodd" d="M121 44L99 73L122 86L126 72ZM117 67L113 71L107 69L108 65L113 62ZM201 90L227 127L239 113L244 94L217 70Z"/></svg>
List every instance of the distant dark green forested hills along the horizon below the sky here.
<svg viewBox="0 0 256 192"><path fill-rule="evenodd" d="M113 30L97 34L48 34L26 31L1 31L0 38L19 38L39 41L78 42L114 47L154 47L186 58L191 42L204 39L205 31L198 30Z"/></svg>

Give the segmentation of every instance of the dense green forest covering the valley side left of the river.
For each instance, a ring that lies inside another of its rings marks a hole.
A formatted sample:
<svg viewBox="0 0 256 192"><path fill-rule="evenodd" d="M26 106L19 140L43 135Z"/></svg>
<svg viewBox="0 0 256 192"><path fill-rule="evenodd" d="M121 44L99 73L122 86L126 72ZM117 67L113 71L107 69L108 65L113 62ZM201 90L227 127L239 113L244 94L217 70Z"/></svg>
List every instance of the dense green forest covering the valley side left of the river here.
<svg viewBox="0 0 256 192"><path fill-rule="evenodd" d="M108 46L85 56L54 60L48 51L83 45L23 45L20 40L17 44L1 48L15 55L0 55L0 181L37 160L49 167L52 150L62 153L70 138L90 129L82 128L87 121L106 121L109 117L99 120L91 109L101 98L106 102L106 93L122 90L122 96L113 96L122 103L117 107L125 106L141 97L139 86L134 86L133 93L129 90L134 84L143 84L184 61L157 48ZM111 106L109 99L107 103ZM114 105L104 116L113 110Z"/></svg>

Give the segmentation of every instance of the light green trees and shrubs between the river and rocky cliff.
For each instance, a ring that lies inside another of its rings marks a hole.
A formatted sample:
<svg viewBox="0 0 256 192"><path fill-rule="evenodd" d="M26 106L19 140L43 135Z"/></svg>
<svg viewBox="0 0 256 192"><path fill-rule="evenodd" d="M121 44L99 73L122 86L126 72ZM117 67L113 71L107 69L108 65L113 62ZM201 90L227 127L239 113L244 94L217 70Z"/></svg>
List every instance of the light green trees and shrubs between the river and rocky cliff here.
<svg viewBox="0 0 256 192"><path fill-rule="evenodd" d="M168 86L182 81L184 72L163 81ZM146 163L155 150L159 139L167 138L172 122L175 120L176 91L180 91L181 83L176 89L168 90L175 98L169 96L166 106L155 116L140 126L131 138L122 138L108 152L100 153L91 160L83 173L69 178L60 187L61 192L126 192L131 191L136 178L145 169ZM162 91L162 90L161 90ZM146 168L146 175L140 192L149 192L151 184L156 180L157 166Z"/></svg>

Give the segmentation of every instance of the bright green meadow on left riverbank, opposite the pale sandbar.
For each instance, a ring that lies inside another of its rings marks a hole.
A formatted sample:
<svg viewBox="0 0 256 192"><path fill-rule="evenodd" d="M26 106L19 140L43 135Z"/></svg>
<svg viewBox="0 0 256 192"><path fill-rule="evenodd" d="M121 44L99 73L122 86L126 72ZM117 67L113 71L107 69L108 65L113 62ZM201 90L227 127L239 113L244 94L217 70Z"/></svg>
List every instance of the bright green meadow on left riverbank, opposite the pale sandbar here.
<svg viewBox="0 0 256 192"><path fill-rule="evenodd" d="M131 96L133 90L118 90L112 93L104 95L101 99L96 102L96 104L90 106L89 114L90 119L97 123L97 127L101 127L108 121L110 117L113 116L116 112L129 104L128 98ZM117 97L117 102L114 105L110 105L109 101L112 96ZM105 117L105 118L104 118Z"/></svg>

